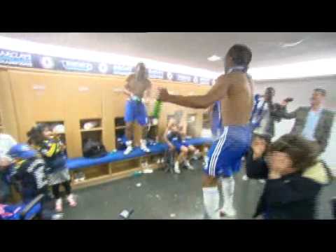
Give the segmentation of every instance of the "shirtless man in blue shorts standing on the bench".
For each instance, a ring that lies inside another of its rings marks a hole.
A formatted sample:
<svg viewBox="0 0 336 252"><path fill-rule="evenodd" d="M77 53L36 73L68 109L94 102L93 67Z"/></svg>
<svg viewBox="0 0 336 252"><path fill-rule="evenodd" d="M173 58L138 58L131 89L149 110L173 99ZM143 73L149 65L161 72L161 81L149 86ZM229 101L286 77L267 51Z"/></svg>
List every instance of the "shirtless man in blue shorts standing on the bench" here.
<svg viewBox="0 0 336 252"><path fill-rule="evenodd" d="M145 104L148 104L151 95L151 81L148 80L148 73L144 63L139 63L136 66L135 73L127 77L125 85L125 94L130 98L127 99L125 109L125 123L126 123L126 150L124 155L128 155L133 150L133 123L137 120L142 127L142 139L140 140L140 148L142 151L148 153L150 150L146 146L146 125L148 124L148 116Z"/></svg>

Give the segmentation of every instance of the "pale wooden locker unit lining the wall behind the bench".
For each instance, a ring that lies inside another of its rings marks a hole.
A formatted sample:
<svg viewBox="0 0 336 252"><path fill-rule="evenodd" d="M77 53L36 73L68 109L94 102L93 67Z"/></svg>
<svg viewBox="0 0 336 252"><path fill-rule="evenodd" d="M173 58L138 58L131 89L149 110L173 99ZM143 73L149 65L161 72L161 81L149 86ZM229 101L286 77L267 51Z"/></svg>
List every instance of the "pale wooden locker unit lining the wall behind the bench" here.
<svg viewBox="0 0 336 252"><path fill-rule="evenodd" d="M16 130L16 135L19 136L17 139L26 141L26 132L35 123L61 121L66 130L69 158L83 156L82 140L90 134L92 137L99 135L107 151L113 151L116 148L115 119L123 118L125 114L127 100L127 96L123 94L125 79L126 76L100 76L36 69L10 68L8 71L0 69L1 98L3 94L7 95L6 99L0 99L0 110L3 111L4 122L7 123L6 130L10 129L13 137L15 137ZM197 86L193 83L174 83L168 80L151 81L153 101L148 108L148 115L153 110L158 87L167 87L169 92L183 95L204 94L209 90L209 87ZM159 137L161 138L165 131L167 116L174 114L177 110L183 110L186 116L195 114L195 134L200 134L204 110L164 103L158 123ZM83 130L83 121L92 119L99 120L99 127ZM134 144L137 146L139 146L140 137L141 131L137 125L134 130ZM132 174L141 169L141 160L144 159L151 160L148 156L134 158L89 167L87 170L79 169L71 174L82 171L85 173L88 181L78 184L79 187L85 184L96 184L99 181L111 181L116 176L125 176L125 174Z"/></svg>

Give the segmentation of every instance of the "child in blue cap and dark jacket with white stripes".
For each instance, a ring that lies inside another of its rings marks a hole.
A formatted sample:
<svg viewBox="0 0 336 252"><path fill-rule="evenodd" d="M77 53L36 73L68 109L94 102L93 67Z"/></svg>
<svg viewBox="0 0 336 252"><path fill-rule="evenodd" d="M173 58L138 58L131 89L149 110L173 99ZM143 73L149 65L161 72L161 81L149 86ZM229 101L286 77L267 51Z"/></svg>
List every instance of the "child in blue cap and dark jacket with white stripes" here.
<svg viewBox="0 0 336 252"><path fill-rule="evenodd" d="M35 197L43 194L41 217L45 219L60 218L61 216L51 210L50 197L48 197L48 179L45 175L47 168L38 152L26 144L17 144L10 148L8 155L14 161L14 165L10 169L10 180L18 184L23 204L29 204Z"/></svg>

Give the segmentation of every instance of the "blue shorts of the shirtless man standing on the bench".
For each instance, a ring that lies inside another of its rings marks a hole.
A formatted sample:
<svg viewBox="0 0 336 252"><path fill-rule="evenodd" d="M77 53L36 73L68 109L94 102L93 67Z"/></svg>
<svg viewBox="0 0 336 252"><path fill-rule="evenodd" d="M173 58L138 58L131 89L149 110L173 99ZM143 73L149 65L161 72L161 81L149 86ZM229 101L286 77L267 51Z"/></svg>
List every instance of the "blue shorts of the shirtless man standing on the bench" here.
<svg viewBox="0 0 336 252"><path fill-rule="evenodd" d="M146 106L140 101L134 101L128 99L125 108L125 123L132 123L135 120L141 126L145 126L148 123L148 116L146 111Z"/></svg>

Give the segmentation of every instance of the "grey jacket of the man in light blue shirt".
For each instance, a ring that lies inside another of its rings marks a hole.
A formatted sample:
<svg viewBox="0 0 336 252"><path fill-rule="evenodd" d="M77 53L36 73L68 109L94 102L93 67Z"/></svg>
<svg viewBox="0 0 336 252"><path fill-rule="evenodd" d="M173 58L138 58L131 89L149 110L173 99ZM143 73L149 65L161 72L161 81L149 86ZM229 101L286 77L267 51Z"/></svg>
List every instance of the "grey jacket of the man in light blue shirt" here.
<svg viewBox="0 0 336 252"><path fill-rule="evenodd" d="M285 106L281 107L279 111L279 116L281 118L293 119L295 118L295 124L292 128L291 134L302 134L304 125L306 124L307 116L310 111L309 106L302 106L293 112L288 113ZM328 146L328 140L330 139L332 121L334 120L335 113L329 111L328 109L323 109L321 112L320 119L315 129L314 137L320 147L320 153L325 151Z"/></svg>

